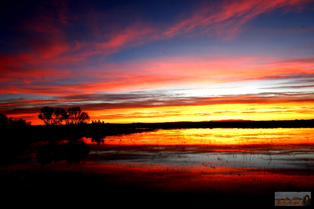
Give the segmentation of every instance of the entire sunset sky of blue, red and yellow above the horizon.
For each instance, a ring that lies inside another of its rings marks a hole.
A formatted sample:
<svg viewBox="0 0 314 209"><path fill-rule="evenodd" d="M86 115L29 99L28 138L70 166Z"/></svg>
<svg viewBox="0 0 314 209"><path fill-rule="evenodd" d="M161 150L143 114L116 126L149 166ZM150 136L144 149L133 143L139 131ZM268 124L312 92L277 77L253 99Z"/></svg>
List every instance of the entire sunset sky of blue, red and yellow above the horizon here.
<svg viewBox="0 0 314 209"><path fill-rule="evenodd" d="M314 2L9 1L0 112L155 123L314 118Z"/></svg>

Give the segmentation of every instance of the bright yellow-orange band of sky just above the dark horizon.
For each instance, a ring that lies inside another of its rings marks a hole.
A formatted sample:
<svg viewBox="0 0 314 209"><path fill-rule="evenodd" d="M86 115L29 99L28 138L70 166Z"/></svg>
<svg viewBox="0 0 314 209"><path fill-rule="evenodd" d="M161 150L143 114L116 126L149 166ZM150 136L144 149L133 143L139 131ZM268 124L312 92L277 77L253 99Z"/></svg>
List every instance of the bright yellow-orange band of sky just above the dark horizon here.
<svg viewBox="0 0 314 209"><path fill-rule="evenodd" d="M105 123L164 123L211 120L313 119L312 103L219 104L182 107L150 107L89 111L92 120Z"/></svg>

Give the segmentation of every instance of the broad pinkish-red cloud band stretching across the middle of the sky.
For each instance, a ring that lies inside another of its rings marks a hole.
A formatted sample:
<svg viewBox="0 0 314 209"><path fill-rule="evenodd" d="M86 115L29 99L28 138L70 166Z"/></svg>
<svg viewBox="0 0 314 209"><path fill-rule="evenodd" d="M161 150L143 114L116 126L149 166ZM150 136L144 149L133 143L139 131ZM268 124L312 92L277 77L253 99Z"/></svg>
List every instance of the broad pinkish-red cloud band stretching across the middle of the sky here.
<svg viewBox="0 0 314 209"><path fill-rule="evenodd" d="M27 54L25 55L27 56ZM29 57L29 56L27 56ZM22 57L16 59L23 60ZM30 60L32 57L30 57ZM41 65L29 68L22 62L3 56L0 75L3 93L47 94L54 96L91 94L104 91L140 91L208 87L213 84L274 79L311 79L313 59L261 63L253 57L173 57L142 63L104 64L77 71ZM35 59L34 59L35 60ZM33 60L33 61L34 61ZM31 60L31 62L33 62ZM69 83L68 81L74 81ZM15 83L15 84L13 84ZM267 87L267 86L265 86Z"/></svg>

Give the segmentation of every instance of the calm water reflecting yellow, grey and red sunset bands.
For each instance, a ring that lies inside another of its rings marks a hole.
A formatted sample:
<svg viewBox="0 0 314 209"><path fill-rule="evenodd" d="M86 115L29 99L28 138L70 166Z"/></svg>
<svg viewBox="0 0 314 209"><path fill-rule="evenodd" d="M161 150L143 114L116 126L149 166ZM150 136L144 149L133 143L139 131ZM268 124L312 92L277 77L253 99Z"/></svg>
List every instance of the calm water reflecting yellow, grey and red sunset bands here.
<svg viewBox="0 0 314 209"><path fill-rule="evenodd" d="M43 145L36 143L19 170L75 171L154 192L273 196L314 187L314 129L174 129L82 140L90 152L78 163L41 167L36 152Z"/></svg>

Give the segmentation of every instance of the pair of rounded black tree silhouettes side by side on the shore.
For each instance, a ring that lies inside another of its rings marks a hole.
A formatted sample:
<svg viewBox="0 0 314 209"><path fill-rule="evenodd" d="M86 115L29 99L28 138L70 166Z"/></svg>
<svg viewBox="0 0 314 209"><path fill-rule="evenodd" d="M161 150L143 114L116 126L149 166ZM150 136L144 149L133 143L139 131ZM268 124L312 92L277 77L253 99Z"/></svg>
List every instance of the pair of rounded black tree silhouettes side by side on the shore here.
<svg viewBox="0 0 314 209"><path fill-rule="evenodd" d="M87 124L90 117L87 112L81 110L80 107L69 107L65 110L60 107L43 107L40 109L38 118L46 125L65 124Z"/></svg>

